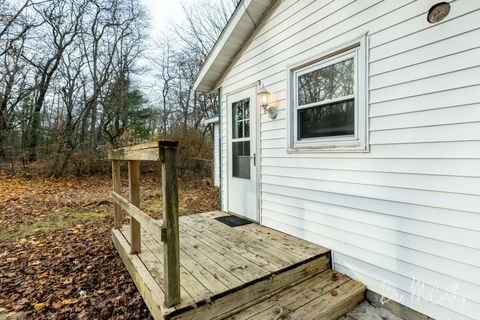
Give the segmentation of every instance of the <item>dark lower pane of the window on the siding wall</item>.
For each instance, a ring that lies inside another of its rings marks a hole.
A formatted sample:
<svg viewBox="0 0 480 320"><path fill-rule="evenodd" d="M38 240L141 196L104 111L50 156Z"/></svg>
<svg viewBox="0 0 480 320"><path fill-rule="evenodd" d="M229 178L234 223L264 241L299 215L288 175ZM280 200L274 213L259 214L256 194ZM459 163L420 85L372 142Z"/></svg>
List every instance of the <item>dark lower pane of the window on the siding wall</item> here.
<svg viewBox="0 0 480 320"><path fill-rule="evenodd" d="M298 138L353 135L355 101L302 109L298 111Z"/></svg>

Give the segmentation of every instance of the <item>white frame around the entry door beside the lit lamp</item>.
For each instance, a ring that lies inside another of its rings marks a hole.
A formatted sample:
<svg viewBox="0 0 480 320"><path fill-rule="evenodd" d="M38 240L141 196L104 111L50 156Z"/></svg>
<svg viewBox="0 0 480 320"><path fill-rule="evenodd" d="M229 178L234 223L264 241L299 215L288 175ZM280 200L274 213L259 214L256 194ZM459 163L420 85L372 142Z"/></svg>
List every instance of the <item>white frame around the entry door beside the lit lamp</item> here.
<svg viewBox="0 0 480 320"><path fill-rule="evenodd" d="M245 91L245 90L249 90L249 89L254 89L255 91L255 103L251 105L251 108L253 109L250 109L250 115L254 114L255 115L255 155L256 155L256 159L255 159L255 166L254 166L254 170L255 172L253 174L255 174L255 216L256 216L256 219L255 220L252 220L253 222L257 222L259 224L261 224L261 197L260 197L260 194L261 194L261 156L260 156L260 150L261 150L261 146L260 146L260 126L261 126L261 116L260 116L260 105L259 105L259 102L258 102L258 91L260 90L260 81L255 81L254 83L251 83L251 84L248 84L248 85L245 85L245 86L242 86L236 90L233 90L233 91L230 91L228 93L225 94L225 108L226 108L226 123L225 123L225 126L226 126L226 151L227 151L227 163L226 163L226 172L227 172L227 196L226 196L226 211L232 215L236 215L238 216L238 214L234 213L234 212L231 212L229 209L230 209L230 200L229 200L229 197L230 197L230 170L231 170L231 161L232 161L232 147L231 147L231 143L232 143L232 138L231 138L231 121L230 121L230 118L232 116L232 110L230 108L230 98L232 95L234 94L237 94L237 93L240 93L242 91ZM247 219L247 220L250 220L248 218L245 218L243 216L241 216L241 218L244 218L244 219Z"/></svg>

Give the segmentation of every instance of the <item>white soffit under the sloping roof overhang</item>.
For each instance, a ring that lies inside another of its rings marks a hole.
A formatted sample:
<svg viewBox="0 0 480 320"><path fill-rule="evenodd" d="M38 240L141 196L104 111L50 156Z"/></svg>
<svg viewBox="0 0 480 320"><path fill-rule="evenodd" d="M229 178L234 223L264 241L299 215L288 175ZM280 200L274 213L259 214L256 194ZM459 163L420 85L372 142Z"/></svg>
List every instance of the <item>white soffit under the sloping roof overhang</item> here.
<svg viewBox="0 0 480 320"><path fill-rule="evenodd" d="M194 90L210 92L275 0L241 0L202 65Z"/></svg>

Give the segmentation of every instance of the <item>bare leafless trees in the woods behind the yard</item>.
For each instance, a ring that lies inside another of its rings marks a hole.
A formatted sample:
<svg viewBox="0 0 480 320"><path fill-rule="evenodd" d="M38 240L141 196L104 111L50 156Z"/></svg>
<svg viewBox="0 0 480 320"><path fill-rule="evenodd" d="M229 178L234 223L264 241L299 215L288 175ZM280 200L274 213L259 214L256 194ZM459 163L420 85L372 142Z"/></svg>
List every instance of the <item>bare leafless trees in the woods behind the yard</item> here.
<svg viewBox="0 0 480 320"><path fill-rule="evenodd" d="M184 4L185 22L146 56L139 0L0 0L0 161L80 174L98 170L109 147L173 136L208 156L201 122L216 97L193 83L236 2Z"/></svg>

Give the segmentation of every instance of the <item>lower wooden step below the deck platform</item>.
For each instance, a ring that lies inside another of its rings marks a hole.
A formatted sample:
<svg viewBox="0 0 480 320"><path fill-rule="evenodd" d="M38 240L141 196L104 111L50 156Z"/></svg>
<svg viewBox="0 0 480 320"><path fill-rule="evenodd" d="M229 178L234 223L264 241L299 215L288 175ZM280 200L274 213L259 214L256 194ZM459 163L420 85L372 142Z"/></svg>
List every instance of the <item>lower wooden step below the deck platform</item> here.
<svg viewBox="0 0 480 320"><path fill-rule="evenodd" d="M335 320L355 308L364 298L363 284L326 270L226 319Z"/></svg>

